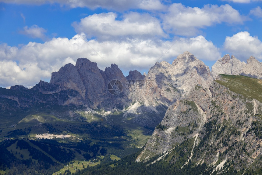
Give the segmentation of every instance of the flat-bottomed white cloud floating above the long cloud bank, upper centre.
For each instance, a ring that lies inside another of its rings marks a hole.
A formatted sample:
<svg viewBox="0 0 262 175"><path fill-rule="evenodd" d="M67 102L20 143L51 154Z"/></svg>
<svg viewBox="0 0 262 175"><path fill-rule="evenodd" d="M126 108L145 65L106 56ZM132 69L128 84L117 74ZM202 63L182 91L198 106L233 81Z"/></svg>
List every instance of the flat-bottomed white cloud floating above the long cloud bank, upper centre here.
<svg viewBox="0 0 262 175"><path fill-rule="evenodd" d="M74 22L72 26L77 33L84 32L88 38L126 39L165 36L160 21L149 14L131 12L123 15L122 20L116 20L116 13L93 14Z"/></svg>

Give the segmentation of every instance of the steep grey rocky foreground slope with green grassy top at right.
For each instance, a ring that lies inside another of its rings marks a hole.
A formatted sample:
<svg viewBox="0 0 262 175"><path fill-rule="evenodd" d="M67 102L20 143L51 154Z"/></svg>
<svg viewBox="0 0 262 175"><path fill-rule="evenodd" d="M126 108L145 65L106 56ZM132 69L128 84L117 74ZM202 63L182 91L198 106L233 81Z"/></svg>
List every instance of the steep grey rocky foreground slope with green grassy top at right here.
<svg viewBox="0 0 262 175"><path fill-rule="evenodd" d="M137 161L165 154L181 167L189 161L217 169L226 162L243 172L261 167L261 92L261 80L240 75L220 75L209 89L195 86L168 108Z"/></svg>

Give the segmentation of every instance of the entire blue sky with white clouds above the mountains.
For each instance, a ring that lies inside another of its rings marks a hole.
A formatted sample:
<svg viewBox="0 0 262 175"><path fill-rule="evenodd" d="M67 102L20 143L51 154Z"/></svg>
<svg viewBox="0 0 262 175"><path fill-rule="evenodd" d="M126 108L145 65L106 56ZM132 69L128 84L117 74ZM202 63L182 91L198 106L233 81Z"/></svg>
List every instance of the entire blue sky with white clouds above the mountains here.
<svg viewBox="0 0 262 175"><path fill-rule="evenodd" d="M102 70L115 63L124 75L134 69L147 73L156 61L172 63L184 51L210 68L225 54L261 61L261 5L261 0L0 0L0 87L49 82L51 72L79 57Z"/></svg>

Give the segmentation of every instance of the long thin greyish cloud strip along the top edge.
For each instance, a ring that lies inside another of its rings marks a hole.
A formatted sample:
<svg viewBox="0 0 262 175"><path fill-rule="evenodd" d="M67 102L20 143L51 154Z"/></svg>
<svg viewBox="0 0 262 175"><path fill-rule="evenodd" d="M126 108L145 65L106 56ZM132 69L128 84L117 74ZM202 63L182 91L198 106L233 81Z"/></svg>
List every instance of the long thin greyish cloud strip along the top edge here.
<svg viewBox="0 0 262 175"><path fill-rule="evenodd" d="M16 3L16 4L34 4L42 5L48 3L58 3L61 6L68 6L70 8L76 7L87 7L90 9L102 8L102 9L113 9L118 11L124 11L127 9L145 9L145 10L160 10L164 9L165 6L159 0L1 0L5 3Z"/></svg>

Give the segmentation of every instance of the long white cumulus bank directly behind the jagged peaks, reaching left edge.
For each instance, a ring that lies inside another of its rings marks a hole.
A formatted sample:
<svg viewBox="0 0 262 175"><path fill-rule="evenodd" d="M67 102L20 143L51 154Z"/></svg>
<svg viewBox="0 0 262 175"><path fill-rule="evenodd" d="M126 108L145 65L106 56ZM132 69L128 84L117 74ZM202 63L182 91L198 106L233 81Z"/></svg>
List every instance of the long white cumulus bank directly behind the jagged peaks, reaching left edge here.
<svg viewBox="0 0 262 175"><path fill-rule="evenodd" d="M51 72L58 71L65 64L75 64L79 57L97 62L102 70L115 63L123 71L148 70L156 61L172 61L184 51L202 60L217 60L221 57L219 49L203 36L177 38L173 41L135 38L120 42L84 41L82 38L85 40L87 37L82 33L71 39L53 38L44 43L29 42L19 48L0 45L0 86L34 86L39 80L49 80Z"/></svg>

